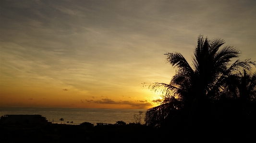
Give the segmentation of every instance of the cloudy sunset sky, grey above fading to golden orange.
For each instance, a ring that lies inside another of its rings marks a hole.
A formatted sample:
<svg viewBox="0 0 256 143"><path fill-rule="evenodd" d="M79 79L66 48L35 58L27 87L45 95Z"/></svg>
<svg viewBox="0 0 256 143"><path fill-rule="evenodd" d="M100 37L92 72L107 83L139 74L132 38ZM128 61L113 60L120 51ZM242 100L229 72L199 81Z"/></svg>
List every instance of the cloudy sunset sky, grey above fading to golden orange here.
<svg viewBox="0 0 256 143"><path fill-rule="evenodd" d="M149 109L200 34L256 61L256 1L0 0L0 107Z"/></svg>

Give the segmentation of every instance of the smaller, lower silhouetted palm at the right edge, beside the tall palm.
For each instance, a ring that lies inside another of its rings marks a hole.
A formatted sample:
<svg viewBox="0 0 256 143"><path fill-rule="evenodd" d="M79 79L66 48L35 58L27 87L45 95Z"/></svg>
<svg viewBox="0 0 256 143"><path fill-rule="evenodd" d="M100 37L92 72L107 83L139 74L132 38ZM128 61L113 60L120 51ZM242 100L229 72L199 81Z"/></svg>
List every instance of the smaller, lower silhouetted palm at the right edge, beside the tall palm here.
<svg viewBox="0 0 256 143"><path fill-rule="evenodd" d="M216 102L219 116L225 120L222 123L252 126L256 120L256 73L244 69L229 78Z"/></svg>

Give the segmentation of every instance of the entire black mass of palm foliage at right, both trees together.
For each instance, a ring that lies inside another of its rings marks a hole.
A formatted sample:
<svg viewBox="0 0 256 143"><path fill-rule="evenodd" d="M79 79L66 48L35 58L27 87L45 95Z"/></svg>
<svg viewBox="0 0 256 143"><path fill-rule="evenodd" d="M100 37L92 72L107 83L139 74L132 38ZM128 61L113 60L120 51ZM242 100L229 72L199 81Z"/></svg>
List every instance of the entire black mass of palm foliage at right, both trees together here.
<svg viewBox="0 0 256 143"><path fill-rule="evenodd" d="M177 69L176 74L170 84L144 83L162 93L163 98L157 107L146 111L147 125L163 127L175 123L194 127L237 121L233 120L237 116L255 119L256 74L247 71L256 63L246 59L230 65L240 52L229 45L220 48L223 44L222 39L208 40L200 35L192 66L180 53L166 54L167 62Z"/></svg>

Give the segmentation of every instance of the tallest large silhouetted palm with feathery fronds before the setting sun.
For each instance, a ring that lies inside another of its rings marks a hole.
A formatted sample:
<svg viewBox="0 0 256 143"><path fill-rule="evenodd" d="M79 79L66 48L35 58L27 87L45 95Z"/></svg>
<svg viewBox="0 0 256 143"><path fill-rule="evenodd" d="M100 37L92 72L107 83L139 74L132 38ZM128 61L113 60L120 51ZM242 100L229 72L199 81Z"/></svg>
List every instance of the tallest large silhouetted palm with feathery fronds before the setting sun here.
<svg viewBox="0 0 256 143"><path fill-rule="evenodd" d="M170 84L153 83L151 90L162 93L163 100L157 107L146 111L146 124L163 126L170 121L202 121L213 108L212 103L220 99L232 75L240 67L251 69L249 59L237 60L231 66L232 58L239 57L239 50L233 46L225 46L224 40L198 37L194 50L192 66L180 53L167 53L167 62L176 67L176 74ZM233 79L233 78L232 78ZM144 84L147 86L147 84Z"/></svg>

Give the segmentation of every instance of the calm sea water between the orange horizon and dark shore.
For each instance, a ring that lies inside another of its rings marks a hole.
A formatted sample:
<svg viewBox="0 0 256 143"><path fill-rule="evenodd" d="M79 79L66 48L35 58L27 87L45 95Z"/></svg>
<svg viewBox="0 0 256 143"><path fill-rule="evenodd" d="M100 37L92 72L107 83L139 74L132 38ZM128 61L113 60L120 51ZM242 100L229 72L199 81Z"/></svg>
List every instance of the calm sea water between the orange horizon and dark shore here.
<svg viewBox="0 0 256 143"><path fill-rule="evenodd" d="M80 108L28 108L28 107L0 107L0 117L3 115L34 115L39 114L54 123L73 121L73 124L90 122L96 125L97 122L114 124L116 121L126 123L133 122L134 114L139 111L146 113L146 110L136 109L80 109Z"/></svg>

